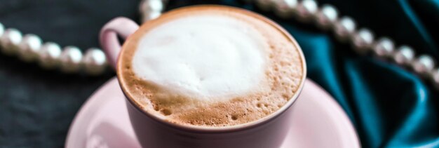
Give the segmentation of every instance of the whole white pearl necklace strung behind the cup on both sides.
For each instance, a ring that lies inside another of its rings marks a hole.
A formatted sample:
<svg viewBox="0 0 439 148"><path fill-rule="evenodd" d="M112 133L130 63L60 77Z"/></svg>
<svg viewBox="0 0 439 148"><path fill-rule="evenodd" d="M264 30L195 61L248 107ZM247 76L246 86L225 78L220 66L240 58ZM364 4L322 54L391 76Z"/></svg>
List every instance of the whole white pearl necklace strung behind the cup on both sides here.
<svg viewBox="0 0 439 148"><path fill-rule="evenodd" d="M139 8L142 22L160 16L166 3L166 0L142 0ZM375 40L370 29L357 29L356 22L349 16L339 17L334 6L324 4L319 8L314 0L255 0L255 4L263 11L272 10L281 18L313 22L320 29L331 30L339 41L351 43L358 53L372 52L379 58L408 67L439 88L439 69L435 67L435 60L430 55L416 57L413 48L405 45L396 48L395 43L386 36ZM42 44L41 39L34 34L22 37L17 29L4 30L1 23L0 46L6 55L18 55L25 61L36 60L44 68L59 67L67 73L84 69L88 74L97 75L107 67L107 59L99 48L90 48L85 55L75 46L66 46L61 50L57 43Z"/></svg>

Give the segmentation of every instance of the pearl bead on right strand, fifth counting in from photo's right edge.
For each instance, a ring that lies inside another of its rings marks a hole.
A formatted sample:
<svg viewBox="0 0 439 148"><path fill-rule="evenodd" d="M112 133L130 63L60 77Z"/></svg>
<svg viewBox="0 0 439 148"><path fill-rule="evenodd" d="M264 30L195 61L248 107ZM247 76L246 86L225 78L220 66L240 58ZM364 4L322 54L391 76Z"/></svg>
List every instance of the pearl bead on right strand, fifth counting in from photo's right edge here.
<svg viewBox="0 0 439 148"><path fill-rule="evenodd" d="M374 43L374 34L369 29L360 29L353 34L352 44L353 47L361 52L365 52L367 48L370 48Z"/></svg>

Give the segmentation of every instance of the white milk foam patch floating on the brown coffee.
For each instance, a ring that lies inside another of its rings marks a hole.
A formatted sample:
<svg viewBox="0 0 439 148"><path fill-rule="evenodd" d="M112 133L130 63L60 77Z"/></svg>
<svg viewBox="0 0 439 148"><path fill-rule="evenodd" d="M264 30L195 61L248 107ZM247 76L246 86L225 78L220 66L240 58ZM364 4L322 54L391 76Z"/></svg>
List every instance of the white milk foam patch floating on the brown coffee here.
<svg viewBox="0 0 439 148"><path fill-rule="evenodd" d="M191 15L144 34L133 56L133 72L168 93L229 100L259 89L267 49L264 36L247 22L227 15Z"/></svg>

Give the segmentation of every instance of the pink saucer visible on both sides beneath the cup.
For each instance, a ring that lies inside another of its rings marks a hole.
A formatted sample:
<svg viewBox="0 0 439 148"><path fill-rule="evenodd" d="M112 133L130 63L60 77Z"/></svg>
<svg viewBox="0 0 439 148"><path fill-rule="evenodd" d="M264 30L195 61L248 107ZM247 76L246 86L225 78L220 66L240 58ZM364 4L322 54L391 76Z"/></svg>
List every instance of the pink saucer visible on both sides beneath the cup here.
<svg viewBox="0 0 439 148"><path fill-rule="evenodd" d="M342 107L313 81L306 81L293 107L294 121L282 147L360 147ZM65 147L140 147L116 78L105 83L81 107L70 126Z"/></svg>

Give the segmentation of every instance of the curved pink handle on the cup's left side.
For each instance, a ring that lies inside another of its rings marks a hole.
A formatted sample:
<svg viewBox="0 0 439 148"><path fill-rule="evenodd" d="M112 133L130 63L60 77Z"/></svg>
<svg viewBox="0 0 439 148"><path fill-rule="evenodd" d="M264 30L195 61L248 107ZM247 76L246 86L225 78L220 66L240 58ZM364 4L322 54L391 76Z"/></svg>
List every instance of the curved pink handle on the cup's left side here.
<svg viewBox="0 0 439 148"><path fill-rule="evenodd" d="M139 25L137 25L133 20L124 17L114 18L107 22L104 27L100 30L100 46L104 50L105 55L114 69L116 69L116 61L121 51L121 43L117 36L121 36L126 39L130 34L133 34Z"/></svg>

